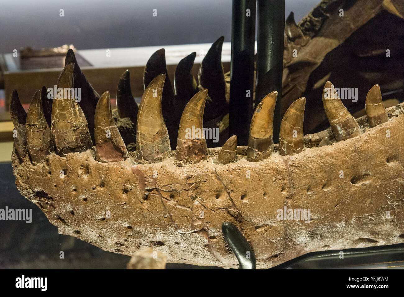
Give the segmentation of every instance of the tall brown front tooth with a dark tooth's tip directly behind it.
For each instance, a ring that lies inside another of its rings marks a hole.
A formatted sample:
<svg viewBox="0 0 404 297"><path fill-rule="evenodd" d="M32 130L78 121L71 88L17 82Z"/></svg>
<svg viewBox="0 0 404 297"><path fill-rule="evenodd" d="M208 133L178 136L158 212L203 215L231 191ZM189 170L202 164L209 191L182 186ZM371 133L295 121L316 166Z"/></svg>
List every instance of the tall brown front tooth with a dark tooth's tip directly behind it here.
<svg viewBox="0 0 404 297"><path fill-rule="evenodd" d="M157 163L171 156L170 139L161 111L165 74L147 86L137 114L136 158L139 163Z"/></svg>

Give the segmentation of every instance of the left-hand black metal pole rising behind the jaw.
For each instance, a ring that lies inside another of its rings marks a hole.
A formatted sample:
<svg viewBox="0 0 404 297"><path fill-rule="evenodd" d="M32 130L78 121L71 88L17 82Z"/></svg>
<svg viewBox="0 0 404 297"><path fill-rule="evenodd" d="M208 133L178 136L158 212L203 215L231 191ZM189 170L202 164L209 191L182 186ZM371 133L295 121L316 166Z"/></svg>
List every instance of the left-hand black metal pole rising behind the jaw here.
<svg viewBox="0 0 404 297"><path fill-rule="evenodd" d="M229 135L247 145L254 88L255 0L233 0Z"/></svg>

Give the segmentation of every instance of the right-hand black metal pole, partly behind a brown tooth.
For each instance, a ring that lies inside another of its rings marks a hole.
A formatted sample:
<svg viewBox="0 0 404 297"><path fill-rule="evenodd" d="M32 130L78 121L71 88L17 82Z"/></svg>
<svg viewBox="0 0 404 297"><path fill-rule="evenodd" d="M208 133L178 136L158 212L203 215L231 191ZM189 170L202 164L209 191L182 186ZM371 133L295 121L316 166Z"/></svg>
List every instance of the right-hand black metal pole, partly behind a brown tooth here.
<svg viewBox="0 0 404 297"><path fill-rule="evenodd" d="M274 112L274 143L278 143L281 121L285 1L257 0L257 13L258 40L255 103L258 104L270 92L278 91Z"/></svg>

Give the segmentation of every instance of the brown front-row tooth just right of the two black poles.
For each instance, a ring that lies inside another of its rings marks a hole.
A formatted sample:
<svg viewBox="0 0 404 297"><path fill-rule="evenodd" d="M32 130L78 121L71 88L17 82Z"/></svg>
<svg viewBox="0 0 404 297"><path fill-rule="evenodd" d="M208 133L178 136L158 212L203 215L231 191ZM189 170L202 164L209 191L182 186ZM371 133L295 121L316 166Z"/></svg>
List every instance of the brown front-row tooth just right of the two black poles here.
<svg viewBox="0 0 404 297"><path fill-rule="evenodd" d="M303 117L306 98L293 102L280 123L279 154L282 156L298 154L304 149Z"/></svg>

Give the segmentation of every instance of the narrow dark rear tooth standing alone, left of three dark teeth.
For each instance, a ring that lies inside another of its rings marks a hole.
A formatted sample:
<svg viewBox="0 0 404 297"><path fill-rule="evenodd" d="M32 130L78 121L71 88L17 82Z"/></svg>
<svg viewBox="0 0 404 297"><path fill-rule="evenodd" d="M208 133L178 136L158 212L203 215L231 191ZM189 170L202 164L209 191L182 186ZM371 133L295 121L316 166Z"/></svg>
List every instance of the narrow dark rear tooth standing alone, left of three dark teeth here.
<svg viewBox="0 0 404 297"><path fill-rule="evenodd" d="M136 121L139 107L137 107L135 98L133 98L132 91L130 90L129 70L125 70L119 79L118 90L116 91L116 107L121 119L128 117L133 122Z"/></svg>

